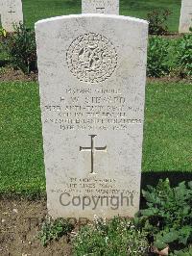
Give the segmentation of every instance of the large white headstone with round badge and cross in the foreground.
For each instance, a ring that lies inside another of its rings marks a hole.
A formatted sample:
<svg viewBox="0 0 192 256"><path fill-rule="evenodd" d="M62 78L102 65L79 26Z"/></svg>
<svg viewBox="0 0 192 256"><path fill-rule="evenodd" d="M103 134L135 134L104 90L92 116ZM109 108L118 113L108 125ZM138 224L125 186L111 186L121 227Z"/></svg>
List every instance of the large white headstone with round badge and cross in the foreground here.
<svg viewBox="0 0 192 256"><path fill-rule="evenodd" d="M147 37L147 21L118 15L36 23L52 217L133 217L138 211Z"/></svg>

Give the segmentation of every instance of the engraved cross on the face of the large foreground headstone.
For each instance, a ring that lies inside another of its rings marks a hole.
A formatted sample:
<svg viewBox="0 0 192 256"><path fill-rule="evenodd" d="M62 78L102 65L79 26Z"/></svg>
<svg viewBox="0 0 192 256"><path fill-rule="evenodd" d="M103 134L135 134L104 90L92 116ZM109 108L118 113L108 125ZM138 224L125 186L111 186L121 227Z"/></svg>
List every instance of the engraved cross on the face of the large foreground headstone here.
<svg viewBox="0 0 192 256"><path fill-rule="evenodd" d="M97 151L107 152L107 145L104 146L104 147L95 147L94 138L96 137L96 135L89 135L89 136L90 136L90 140L91 140L90 147L80 146L80 152L81 151L91 152L91 171L90 171L90 173L91 174L96 174L96 172L94 172L94 156L95 156L95 153Z"/></svg>

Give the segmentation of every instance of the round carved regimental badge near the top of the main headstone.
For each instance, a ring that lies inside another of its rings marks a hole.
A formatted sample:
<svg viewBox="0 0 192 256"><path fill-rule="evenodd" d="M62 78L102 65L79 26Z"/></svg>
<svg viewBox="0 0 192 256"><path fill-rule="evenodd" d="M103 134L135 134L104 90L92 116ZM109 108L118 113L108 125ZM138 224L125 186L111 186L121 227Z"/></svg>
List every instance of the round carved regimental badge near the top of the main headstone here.
<svg viewBox="0 0 192 256"><path fill-rule="evenodd" d="M117 53L108 38L88 33L72 41L66 54L70 71L82 82L103 82L114 72Z"/></svg>

